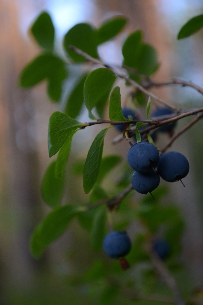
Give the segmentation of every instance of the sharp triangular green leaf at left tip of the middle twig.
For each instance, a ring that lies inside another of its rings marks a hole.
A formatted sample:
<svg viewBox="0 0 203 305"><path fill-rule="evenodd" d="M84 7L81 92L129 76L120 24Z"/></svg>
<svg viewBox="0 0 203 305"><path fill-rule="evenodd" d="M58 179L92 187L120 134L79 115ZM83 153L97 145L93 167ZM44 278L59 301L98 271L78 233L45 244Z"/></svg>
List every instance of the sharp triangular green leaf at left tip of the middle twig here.
<svg viewBox="0 0 203 305"><path fill-rule="evenodd" d="M68 117L65 113L59 111L52 113L48 129L49 157L54 156L80 126L82 123Z"/></svg>

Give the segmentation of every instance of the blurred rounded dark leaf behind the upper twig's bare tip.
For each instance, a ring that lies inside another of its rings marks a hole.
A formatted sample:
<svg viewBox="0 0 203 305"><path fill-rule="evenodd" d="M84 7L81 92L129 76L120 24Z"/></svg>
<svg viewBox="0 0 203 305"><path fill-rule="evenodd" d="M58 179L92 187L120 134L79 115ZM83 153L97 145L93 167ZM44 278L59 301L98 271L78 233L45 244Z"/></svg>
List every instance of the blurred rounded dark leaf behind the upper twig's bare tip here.
<svg viewBox="0 0 203 305"><path fill-rule="evenodd" d="M72 27L64 37L64 48L68 55L76 62L83 62L85 58L69 48L74 45L92 57L98 58L96 46L96 32L87 23L78 23Z"/></svg>

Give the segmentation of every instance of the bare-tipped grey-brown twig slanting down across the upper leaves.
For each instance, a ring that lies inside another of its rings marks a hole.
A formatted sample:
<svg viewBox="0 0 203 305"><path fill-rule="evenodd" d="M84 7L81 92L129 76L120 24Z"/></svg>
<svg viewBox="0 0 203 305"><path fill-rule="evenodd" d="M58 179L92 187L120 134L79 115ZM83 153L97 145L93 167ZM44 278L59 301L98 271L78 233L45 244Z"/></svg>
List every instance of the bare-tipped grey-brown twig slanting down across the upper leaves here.
<svg viewBox="0 0 203 305"><path fill-rule="evenodd" d="M122 74L121 72L117 71L113 66L107 65L105 63L103 63L101 60L93 58L92 56L89 56L87 53L83 52L82 50L80 50L79 48L76 48L73 45L70 45L69 48L74 51L75 53L83 56L87 61L93 63L93 64L99 64L104 66L105 68L113 71L115 74L117 74L118 77L123 78L124 80L126 80L129 84L131 84L133 87L139 89L140 91L142 91L144 94L146 94L147 96L150 96L152 99L156 100L157 102L159 102L160 104L169 107L170 109L173 109L174 111L180 111L180 109L178 109L177 107L170 105L168 102L164 101L163 99L160 99L158 96L156 96L155 94L153 94L152 92L148 91L147 89L143 88L140 84L138 84L136 81L132 80L131 78L129 78L128 76L126 76L125 74Z"/></svg>

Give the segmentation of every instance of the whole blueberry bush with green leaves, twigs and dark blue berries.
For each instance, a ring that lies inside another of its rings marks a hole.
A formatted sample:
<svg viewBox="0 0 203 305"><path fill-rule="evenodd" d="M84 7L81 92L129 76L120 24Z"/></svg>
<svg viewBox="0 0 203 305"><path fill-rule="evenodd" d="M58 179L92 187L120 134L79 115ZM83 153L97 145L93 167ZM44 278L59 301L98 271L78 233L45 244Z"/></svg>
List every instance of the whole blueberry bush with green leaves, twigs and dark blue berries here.
<svg viewBox="0 0 203 305"><path fill-rule="evenodd" d="M134 31L123 42L121 66L104 63L98 46L118 35L126 23L124 16L114 16L99 28L89 23L76 24L65 34L63 55L57 54L55 30L47 12L41 13L30 28L41 52L23 69L19 83L23 88L30 88L45 80L50 100L62 109L52 113L49 119L48 154L50 158L58 155L48 166L42 181L43 200L52 210L34 229L30 251L39 259L75 218L89 234L89 253L100 253L100 259L93 259L88 271L81 272L72 284L78 289L86 285L85 296L98 304L131 304L130 300L136 304L186 304L191 301L190 292L183 289L182 280L176 276L184 269L180 262L184 222L176 206L161 204L167 189L160 187L159 182L162 178L168 182L180 180L183 184L189 163L180 152L166 150L198 122L203 116L203 108L180 109L149 90L168 84L190 86L202 94L203 89L178 79L153 81L152 76L159 69L158 54L152 45L145 43L141 30ZM203 15L189 20L180 30L178 39L201 27ZM80 71L78 79L65 96L65 82L72 73L70 66L75 65ZM123 108L118 79L128 88ZM62 103L62 100L66 102ZM156 107L152 113L151 103ZM77 119L84 105L89 113L88 122ZM143 106L145 117L141 117L138 110ZM176 131L178 120L194 115L189 124ZM84 163L75 165L83 175L85 194L91 192L89 201L61 205L72 138L76 132L96 124L105 127L93 140ZM121 163L121 157L116 154L103 156L104 138L112 127L117 130L117 137L112 142L116 144L123 140L124 145L129 145L124 160L129 164L121 170L120 178L109 194L102 182L110 170ZM159 148L156 139L163 133L168 143ZM179 184L179 187L183 185ZM149 194L142 195L134 204L136 192ZM130 239L127 230L135 219L142 230L135 239ZM145 267L141 268L139 281L133 281L131 270L138 264Z"/></svg>

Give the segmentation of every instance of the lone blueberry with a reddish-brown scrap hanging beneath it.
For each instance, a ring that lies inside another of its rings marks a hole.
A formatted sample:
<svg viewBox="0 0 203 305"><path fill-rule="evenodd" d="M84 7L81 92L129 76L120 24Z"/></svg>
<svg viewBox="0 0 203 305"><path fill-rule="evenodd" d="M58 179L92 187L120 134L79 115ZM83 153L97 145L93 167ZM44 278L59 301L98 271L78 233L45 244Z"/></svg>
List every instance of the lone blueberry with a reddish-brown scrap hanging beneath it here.
<svg viewBox="0 0 203 305"><path fill-rule="evenodd" d="M131 240L126 232L112 231L104 238L103 249L109 257L118 259L130 252Z"/></svg>

